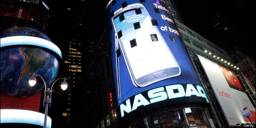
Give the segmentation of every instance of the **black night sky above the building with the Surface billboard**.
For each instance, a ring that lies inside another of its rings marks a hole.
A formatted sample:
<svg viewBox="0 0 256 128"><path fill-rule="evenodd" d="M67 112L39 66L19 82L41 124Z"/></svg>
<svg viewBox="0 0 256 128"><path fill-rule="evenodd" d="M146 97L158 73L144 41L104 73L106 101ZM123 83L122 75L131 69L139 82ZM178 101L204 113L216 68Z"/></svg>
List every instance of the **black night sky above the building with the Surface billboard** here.
<svg viewBox="0 0 256 128"><path fill-rule="evenodd" d="M253 5L252 0L174 0L181 18L186 26L196 31L206 39L214 42L211 33L211 18L214 13L222 13L230 18L230 24L237 29L238 38L234 42L223 44L226 52L237 46L245 55L255 60L255 48L253 46L252 25L253 25ZM220 46L220 44L217 44Z"/></svg>

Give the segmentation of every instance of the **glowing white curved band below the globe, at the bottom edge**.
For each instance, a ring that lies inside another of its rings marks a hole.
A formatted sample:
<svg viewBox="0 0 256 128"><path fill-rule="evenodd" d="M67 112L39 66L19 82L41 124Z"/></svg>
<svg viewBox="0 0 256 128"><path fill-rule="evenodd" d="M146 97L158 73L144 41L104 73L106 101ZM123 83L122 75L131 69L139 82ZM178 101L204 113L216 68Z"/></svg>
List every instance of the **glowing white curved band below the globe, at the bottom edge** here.
<svg viewBox="0 0 256 128"><path fill-rule="evenodd" d="M1 109L0 123L22 123L44 126L44 114L31 110ZM46 127L51 128L51 118L47 117Z"/></svg>

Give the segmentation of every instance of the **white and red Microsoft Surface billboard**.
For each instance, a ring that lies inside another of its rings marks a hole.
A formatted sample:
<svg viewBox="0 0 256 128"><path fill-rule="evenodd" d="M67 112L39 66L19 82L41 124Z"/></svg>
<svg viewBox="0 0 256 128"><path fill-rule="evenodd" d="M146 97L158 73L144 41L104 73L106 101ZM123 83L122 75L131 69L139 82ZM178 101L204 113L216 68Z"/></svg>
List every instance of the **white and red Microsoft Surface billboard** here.
<svg viewBox="0 0 256 128"><path fill-rule="evenodd" d="M229 126L250 123L243 117L241 110L248 108L252 113L251 121L255 123L255 108L241 86L236 74L200 55L197 55L214 90Z"/></svg>

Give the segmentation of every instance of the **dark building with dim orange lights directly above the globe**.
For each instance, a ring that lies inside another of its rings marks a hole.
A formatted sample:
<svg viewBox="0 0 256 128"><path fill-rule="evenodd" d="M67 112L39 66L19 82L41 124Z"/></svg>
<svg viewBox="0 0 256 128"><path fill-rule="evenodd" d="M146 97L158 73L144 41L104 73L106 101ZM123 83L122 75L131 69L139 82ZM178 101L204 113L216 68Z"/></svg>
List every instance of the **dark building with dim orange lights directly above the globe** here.
<svg viewBox="0 0 256 128"><path fill-rule="evenodd" d="M19 26L46 33L48 18L48 12L42 0L1 1L1 31Z"/></svg>

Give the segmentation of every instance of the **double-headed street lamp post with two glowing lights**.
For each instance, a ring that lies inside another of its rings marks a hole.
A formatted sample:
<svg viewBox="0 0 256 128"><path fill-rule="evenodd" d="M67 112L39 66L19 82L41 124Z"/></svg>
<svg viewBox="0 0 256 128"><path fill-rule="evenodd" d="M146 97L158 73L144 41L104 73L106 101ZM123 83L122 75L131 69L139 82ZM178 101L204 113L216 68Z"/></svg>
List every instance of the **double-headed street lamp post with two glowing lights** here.
<svg viewBox="0 0 256 128"><path fill-rule="evenodd" d="M53 92L53 85L55 84L55 82L59 79L63 79L63 82L61 83L61 88L62 90L66 90L66 88L68 87L68 83L66 82L66 78L58 78L56 79L53 84L51 85L51 89L46 87L46 83L44 81L44 78L39 75L39 74L35 74L35 73L30 73L32 74L32 77L29 78L29 85L30 86L34 86L35 83L37 82L35 77L40 77L43 82L44 82L44 106L45 106L45 111L44 111L44 128L46 128L46 122L47 122L47 115L48 115L48 106L51 107L51 93ZM46 89L47 88L47 89Z"/></svg>

